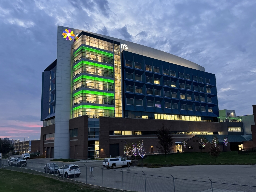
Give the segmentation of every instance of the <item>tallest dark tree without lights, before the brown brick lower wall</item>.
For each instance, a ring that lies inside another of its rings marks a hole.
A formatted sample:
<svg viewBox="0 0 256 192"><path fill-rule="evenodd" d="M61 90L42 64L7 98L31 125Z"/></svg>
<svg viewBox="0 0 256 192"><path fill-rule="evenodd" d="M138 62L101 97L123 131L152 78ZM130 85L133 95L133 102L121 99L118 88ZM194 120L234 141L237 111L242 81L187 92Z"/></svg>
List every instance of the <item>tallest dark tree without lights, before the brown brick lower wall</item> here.
<svg viewBox="0 0 256 192"><path fill-rule="evenodd" d="M170 128L165 128L164 124L161 128L157 130L157 146L163 154L165 154L165 161L166 161L166 154L171 151L171 146L173 144L172 135L170 134Z"/></svg>

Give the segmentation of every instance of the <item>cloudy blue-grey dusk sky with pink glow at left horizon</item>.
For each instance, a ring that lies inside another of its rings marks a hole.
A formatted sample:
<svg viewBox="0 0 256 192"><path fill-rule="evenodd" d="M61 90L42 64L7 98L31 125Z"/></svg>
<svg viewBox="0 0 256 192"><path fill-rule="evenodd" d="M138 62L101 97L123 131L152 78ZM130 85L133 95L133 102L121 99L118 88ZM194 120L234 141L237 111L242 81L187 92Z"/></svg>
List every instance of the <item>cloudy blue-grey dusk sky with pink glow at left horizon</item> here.
<svg viewBox="0 0 256 192"><path fill-rule="evenodd" d="M255 10L255 1L243 0L1 0L0 137L40 138L42 72L56 59L57 25L202 65L216 74L219 109L252 114Z"/></svg>

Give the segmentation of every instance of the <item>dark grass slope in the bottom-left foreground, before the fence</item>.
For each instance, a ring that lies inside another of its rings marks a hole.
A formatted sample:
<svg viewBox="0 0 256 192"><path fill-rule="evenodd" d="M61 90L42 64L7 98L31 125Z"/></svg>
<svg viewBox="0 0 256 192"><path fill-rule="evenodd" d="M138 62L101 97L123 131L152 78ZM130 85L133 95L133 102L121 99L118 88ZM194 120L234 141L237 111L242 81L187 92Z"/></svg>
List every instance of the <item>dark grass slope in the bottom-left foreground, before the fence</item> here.
<svg viewBox="0 0 256 192"><path fill-rule="evenodd" d="M63 182L57 179L0 169L0 191L4 192L119 192L85 184Z"/></svg>

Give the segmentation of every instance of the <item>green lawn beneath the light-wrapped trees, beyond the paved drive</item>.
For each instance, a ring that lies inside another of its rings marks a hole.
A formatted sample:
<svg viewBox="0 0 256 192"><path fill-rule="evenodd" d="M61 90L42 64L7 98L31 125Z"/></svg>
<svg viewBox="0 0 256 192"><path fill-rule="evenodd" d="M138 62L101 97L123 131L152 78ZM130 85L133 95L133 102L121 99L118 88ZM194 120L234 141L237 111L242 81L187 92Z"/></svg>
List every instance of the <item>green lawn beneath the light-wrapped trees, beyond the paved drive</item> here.
<svg viewBox="0 0 256 192"><path fill-rule="evenodd" d="M146 158L145 158L146 157ZM237 151L222 152L215 159L208 153L174 153L166 155L147 155L143 158L143 164L157 166L177 166L177 165L220 165L220 164L256 164L256 155L240 155ZM141 160L139 162L141 164Z"/></svg>

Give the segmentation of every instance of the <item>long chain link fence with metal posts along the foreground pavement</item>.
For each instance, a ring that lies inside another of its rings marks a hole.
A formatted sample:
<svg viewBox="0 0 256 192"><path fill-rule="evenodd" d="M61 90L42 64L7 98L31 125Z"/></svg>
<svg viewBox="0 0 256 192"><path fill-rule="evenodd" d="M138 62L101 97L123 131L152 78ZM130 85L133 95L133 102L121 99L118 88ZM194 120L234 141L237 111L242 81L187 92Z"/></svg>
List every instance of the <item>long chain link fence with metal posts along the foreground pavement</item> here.
<svg viewBox="0 0 256 192"><path fill-rule="evenodd" d="M71 163L69 163L71 164ZM68 176L58 174L58 171L49 173L45 169L46 163L27 162L26 165L11 165L8 160L0 160L0 168L32 173L43 176L58 177L63 180L74 180L82 183L107 187L120 190L139 191L139 192L255 192L256 185L238 184L231 182L221 182L208 179L187 179L166 176L145 174L143 171L133 172L132 168L106 169L104 167L89 167L79 165L81 176ZM58 163L58 168L64 164ZM131 170L129 170L131 169ZM60 169L58 169L60 170ZM65 171L65 170L64 170Z"/></svg>

